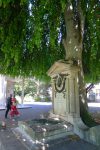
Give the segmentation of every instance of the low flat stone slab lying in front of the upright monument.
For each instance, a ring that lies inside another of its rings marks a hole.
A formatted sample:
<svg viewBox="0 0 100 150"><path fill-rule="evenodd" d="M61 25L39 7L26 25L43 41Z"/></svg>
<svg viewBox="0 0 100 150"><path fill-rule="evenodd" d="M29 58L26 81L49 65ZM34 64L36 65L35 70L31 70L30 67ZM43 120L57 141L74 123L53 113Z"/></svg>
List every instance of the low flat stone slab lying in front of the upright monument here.
<svg viewBox="0 0 100 150"><path fill-rule="evenodd" d="M33 141L46 142L73 134L73 126L61 120L35 119L27 122L19 121L19 128L26 132Z"/></svg>

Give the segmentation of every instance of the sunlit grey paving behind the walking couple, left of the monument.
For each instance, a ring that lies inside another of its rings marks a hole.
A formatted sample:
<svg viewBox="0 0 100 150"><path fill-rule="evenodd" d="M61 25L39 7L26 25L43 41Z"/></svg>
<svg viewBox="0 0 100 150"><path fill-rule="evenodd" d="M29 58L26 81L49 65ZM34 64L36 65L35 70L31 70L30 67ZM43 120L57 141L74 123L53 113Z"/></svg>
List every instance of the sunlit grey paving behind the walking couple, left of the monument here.
<svg viewBox="0 0 100 150"><path fill-rule="evenodd" d="M52 108L51 103L33 103L26 104L19 107L20 117L19 120L27 120L39 118L43 113L48 113ZM5 108L0 109L0 121L4 119ZM8 115L8 118L10 116Z"/></svg>

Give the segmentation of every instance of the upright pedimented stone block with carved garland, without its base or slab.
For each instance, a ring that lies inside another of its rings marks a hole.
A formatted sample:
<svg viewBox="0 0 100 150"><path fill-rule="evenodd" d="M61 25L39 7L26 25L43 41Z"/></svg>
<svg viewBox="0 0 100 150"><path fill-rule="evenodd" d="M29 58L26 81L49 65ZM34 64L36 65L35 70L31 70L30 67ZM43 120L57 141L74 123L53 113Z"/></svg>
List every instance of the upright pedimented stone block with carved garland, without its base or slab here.
<svg viewBox="0 0 100 150"><path fill-rule="evenodd" d="M74 124L80 118L78 66L73 61L57 61L47 74L52 81L53 114Z"/></svg>

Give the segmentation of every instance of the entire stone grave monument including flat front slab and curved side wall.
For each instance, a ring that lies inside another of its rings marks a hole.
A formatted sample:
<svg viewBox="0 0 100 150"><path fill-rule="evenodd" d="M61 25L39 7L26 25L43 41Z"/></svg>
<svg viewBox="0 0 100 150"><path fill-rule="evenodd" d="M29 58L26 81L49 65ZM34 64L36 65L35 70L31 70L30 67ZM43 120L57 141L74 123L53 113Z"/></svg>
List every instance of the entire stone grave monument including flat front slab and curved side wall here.
<svg viewBox="0 0 100 150"><path fill-rule="evenodd" d="M89 128L80 117L78 73L79 68L73 61L55 62L47 72L52 81L53 109L50 116L19 121L16 132L43 145L77 134L80 138L100 146L100 134L97 132L100 126Z"/></svg>

